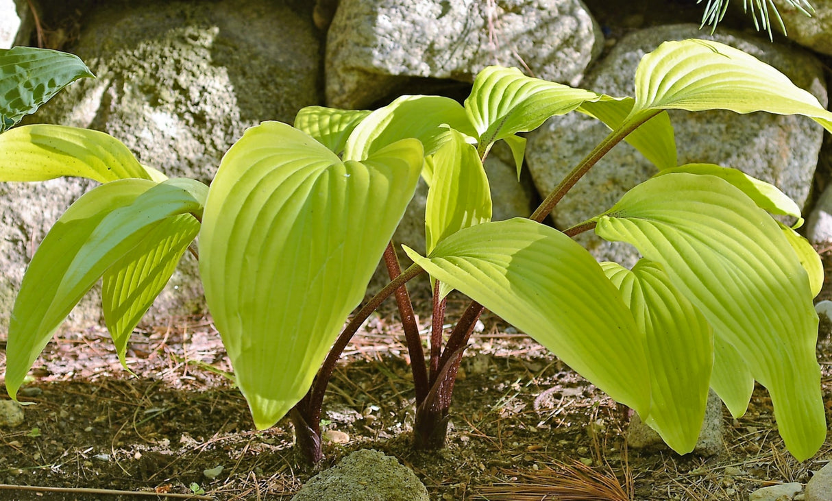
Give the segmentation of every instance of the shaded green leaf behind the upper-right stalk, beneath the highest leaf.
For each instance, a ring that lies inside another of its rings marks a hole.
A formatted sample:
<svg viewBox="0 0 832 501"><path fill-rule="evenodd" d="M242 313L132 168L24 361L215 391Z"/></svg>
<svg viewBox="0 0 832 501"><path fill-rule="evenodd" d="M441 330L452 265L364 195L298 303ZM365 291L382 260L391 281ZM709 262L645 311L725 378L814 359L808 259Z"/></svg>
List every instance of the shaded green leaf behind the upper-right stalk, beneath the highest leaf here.
<svg viewBox="0 0 832 501"><path fill-rule="evenodd" d="M628 120L635 100L624 97L621 100L606 99L598 102L585 102L577 111L604 122L610 129L616 130ZM631 131L624 141L636 148L641 155L659 169L675 167L676 138L673 134L671 117L661 112L644 122L635 131Z"/></svg>

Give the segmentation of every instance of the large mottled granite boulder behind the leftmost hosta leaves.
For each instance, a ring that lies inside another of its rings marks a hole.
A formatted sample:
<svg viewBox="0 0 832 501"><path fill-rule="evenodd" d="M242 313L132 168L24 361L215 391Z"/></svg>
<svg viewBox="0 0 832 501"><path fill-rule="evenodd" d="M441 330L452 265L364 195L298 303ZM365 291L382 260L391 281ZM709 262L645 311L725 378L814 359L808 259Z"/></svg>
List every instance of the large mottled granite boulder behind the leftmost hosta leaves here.
<svg viewBox="0 0 832 501"><path fill-rule="evenodd" d="M320 102L319 38L295 3L100 2L87 13L76 52L97 79L76 82L33 121L106 131L168 176L208 182L249 126L293 122ZM90 183L0 186L0 329L29 256ZM71 323L100 318L89 295ZM196 260L185 256L146 320L205 310Z"/></svg>

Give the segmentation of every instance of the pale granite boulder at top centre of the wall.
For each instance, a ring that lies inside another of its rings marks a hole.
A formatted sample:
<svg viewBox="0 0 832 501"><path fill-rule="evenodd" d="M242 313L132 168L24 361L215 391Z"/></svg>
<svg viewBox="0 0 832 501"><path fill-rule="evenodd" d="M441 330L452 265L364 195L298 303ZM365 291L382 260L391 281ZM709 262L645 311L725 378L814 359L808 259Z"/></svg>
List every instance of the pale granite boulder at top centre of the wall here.
<svg viewBox="0 0 832 501"><path fill-rule="evenodd" d="M471 82L492 64L577 83L603 47L581 0L341 0L329 27L329 106L361 108L409 77Z"/></svg>

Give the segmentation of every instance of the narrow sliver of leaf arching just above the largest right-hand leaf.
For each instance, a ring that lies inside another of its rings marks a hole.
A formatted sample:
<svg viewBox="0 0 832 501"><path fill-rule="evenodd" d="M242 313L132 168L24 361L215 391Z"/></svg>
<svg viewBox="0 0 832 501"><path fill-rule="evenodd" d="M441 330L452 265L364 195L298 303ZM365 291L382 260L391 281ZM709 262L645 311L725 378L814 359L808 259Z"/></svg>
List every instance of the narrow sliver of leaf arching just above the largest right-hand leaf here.
<svg viewBox="0 0 832 501"><path fill-rule="evenodd" d="M784 192L780 191L777 186L771 185L765 181L745 174L745 172L730 169L728 167L717 166L710 163L690 163L684 166L678 166L672 169L665 169L656 174L663 176L674 172L687 172L689 174L707 174L709 176L716 176L724 179L732 186L739 188L745 195L750 196L751 200L757 204L760 209L769 211L771 214L779 214L780 216L792 216L797 218L795 228L802 226L803 217L800 216L800 207L795 201L789 198Z"/></svg>

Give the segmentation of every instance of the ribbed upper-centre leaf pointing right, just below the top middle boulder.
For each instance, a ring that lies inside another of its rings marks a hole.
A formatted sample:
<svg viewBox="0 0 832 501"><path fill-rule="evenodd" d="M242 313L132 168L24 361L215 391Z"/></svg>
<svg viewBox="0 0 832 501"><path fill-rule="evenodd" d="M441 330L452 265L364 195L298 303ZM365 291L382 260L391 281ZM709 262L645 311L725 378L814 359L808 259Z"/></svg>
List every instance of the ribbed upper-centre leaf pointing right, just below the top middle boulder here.
<svg viewBox="0 0 832 501"><path fill-rule="evenodd" d="M601 94L527 77L517 68L490 66L473 81L465 112L482 156L500 139L536 129L547 118L572 112Z"/></svg>

